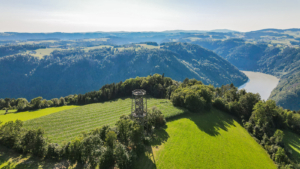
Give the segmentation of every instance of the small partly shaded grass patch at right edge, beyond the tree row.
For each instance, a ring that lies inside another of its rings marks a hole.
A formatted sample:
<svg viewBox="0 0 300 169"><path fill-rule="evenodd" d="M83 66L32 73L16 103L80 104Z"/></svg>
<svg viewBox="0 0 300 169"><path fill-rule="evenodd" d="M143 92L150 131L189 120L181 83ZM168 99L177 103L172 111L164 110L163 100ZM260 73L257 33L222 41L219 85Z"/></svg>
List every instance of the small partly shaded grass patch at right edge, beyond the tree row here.
<svg viewBox="0 0 300 169"><path fill-rule="evenodd" d="M283 142L292 153L293 160L297 163L300 162L300 136L289 130L285 130Z"/></svg>

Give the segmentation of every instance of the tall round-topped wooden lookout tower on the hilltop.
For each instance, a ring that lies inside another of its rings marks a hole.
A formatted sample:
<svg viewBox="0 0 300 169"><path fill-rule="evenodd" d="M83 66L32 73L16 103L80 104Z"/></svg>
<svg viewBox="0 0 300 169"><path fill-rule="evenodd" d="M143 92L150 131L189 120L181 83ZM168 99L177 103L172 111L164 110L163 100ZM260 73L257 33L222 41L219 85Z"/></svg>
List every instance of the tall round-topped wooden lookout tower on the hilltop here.
<svg viewBox="0 0 300 169"><path fill-rule="evenodd" d="M144 126L147 116L147 98L146 91L143 89L135 89L132 91L131 115L142 126Z"/></svg>

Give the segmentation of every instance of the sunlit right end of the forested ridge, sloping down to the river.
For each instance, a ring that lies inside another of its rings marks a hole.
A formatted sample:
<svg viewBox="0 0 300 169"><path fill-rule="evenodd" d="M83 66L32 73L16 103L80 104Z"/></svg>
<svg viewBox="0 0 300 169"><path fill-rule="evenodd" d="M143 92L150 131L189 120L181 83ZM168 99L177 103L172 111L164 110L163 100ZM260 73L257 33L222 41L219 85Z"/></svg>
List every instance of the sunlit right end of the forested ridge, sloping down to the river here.
<svg viewBox="0 0 300 169"><path fill-rule="evenodd" d="M196 79L200 79L204 84L221 86L224 83L233 83L235 86L240 86L245 83L243 75L236 76L231 73L238 71L236 67L232 67L228 61L199 45L178 42L162 43L161 49L175 52L176 57L195 72L198 75Z"/></svg>

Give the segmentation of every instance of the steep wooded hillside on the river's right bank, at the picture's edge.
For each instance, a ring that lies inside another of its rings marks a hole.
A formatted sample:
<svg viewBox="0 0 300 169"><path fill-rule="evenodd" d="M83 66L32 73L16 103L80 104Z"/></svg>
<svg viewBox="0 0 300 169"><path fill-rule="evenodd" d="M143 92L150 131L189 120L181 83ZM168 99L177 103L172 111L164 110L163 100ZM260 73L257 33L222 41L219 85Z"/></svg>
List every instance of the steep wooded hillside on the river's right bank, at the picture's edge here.
<svg viewBox="0 0 300 169"><path fill-rule="evenodd" d="M267 73L280 76L270 99L284 108L300 110L300 49L287 48L263 62L261 67Z"/></svg>

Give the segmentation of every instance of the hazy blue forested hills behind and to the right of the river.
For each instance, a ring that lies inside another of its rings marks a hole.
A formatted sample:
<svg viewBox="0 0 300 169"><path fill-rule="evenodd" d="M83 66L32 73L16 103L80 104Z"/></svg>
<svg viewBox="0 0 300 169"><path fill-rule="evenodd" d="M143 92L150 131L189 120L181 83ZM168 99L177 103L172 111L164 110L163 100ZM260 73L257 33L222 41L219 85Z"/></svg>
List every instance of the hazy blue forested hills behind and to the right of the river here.
<svg viewBox="0 0 300 169"><path fill-rule="evenodd" d="M213 50L242 70L259 71L280 78L270 98L278 105L291 110L300 109L300 49L251 44L243 39L225 41L196 41Z"/></svg>

